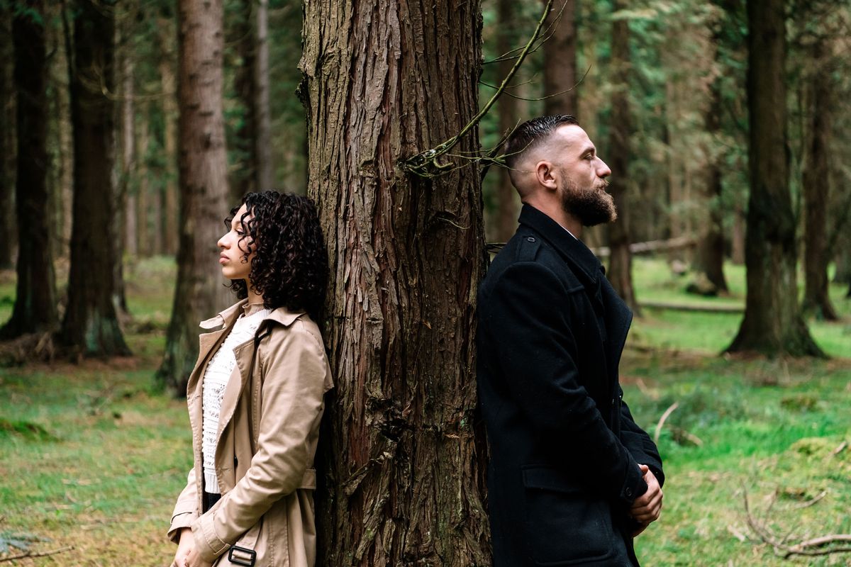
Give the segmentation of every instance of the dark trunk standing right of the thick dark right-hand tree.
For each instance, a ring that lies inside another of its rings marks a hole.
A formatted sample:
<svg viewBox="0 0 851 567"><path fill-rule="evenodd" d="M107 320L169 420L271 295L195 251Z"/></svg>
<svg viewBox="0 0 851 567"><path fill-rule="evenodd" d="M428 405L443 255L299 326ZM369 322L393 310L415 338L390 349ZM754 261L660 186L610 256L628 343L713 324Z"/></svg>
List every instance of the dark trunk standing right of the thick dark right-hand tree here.
<svg viewBox="0 0 851 567"><path fill-rule="evenodd" d="M812 48L811 63L815 67L808 80L808 144L805 146L803 170L804 201L804 294L802 309L819 319L837 320L828 295L827 203L831 192L828 157L831 152L831 74L824 64L825 40L819 38Z"/></svg>

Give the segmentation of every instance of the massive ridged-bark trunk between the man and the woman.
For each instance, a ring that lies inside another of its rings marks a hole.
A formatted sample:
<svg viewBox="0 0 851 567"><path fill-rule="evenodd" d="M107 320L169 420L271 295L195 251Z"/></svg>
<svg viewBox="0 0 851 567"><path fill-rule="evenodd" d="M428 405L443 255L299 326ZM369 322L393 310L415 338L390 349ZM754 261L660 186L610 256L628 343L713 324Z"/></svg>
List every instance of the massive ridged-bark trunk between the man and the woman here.
<svg viewBox="0 0 851 567"><path fill-rule="evenodd" d="M476 411L485 253L476 167L399 160L477 111L479 5L306 3L309 193L328 240L336 377L318 456L320 565L489 565ZM479 149L475 129L455 154Z"/></svg>

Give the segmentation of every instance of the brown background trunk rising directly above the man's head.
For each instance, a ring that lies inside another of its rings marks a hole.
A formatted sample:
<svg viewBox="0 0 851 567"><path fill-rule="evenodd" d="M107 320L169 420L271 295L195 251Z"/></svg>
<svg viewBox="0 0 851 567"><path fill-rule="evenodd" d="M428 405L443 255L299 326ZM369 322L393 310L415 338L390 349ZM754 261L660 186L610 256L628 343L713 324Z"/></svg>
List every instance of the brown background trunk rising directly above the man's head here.
<svg viewBox="0 0 851 567"><path fill-rule="evenodd" d="M505 2L506 0L502 0ZM561 12L561 20L556 18ZM576 73L576 0L556 0L546 25L552 35L544 43L544 114L579 112ZM500 49L500 53L505 53ZM581 122L580 117L580 122Z"/></svg>

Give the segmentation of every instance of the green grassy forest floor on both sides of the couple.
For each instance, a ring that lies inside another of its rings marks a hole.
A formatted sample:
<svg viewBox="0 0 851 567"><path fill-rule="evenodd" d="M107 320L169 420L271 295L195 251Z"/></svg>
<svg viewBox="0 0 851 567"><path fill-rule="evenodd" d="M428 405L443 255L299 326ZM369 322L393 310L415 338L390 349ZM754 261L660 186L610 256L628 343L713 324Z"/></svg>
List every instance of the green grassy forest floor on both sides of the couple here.
<svg viewBox="0 0 851 567"><path fill-rule="evenodd" d="M688 275L637 259L637 296L743 304L743 269L729 266L727 275L729 297L695 298L683 292ZM165 531L190 467L190 434L184 402L158 392L153 374L174 265L142 261L127 278L133 357L0 368L0 561L22 553L3 550L16 539L33 553L73 548L10 565L171 561ZM621 364L625 400L651 435L677 404L659 432L665 507L637 539L643 564L851 563L851 553L782 558L756 531L785 545L851 533L851 300L843 291L831 290L842 322L810 321L831 360L722 356L737 314L644 309L635 320ZM13 296L14 274L0 273L0 320Z"/></svg>

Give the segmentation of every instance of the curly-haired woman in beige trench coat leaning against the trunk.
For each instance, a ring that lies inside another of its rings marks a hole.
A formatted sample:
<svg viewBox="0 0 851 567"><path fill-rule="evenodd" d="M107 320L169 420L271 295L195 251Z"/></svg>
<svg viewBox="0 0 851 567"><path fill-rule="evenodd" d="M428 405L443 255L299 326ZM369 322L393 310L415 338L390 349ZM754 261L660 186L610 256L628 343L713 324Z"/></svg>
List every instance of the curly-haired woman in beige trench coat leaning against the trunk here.
<svg viewBox="0 0 851 567"><path fill-rule="evenodd" d="M201 323L186 400L195 465L172 514L173 567L313 565L323 394L316 316L327 275L310 199L249 193L218 242L241 299Z"/></svg>

